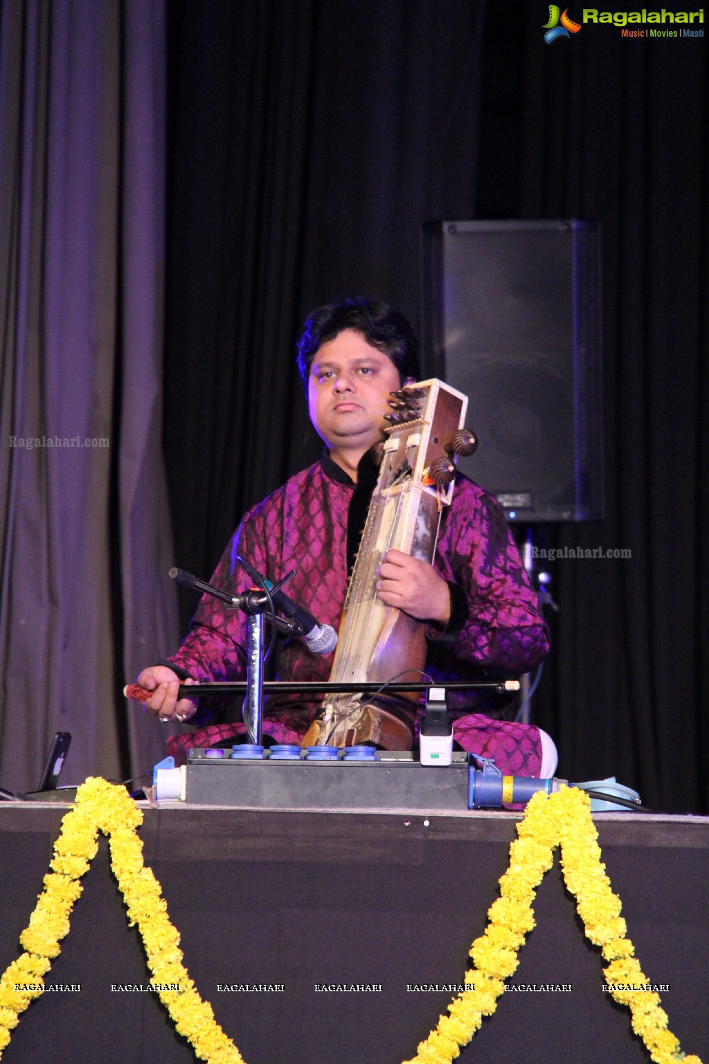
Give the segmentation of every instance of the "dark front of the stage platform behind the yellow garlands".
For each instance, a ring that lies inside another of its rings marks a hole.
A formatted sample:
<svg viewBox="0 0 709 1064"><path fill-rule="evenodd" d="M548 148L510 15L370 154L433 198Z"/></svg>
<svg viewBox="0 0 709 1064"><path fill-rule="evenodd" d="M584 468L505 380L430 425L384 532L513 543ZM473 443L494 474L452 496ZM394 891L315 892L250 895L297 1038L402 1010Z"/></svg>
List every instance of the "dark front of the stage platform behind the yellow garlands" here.
<svg viewBox="0 0 709 1064"><path fill-rule="evenodd" d="M145 860L182 934L185 965L247 1064L400 1064L462 981L508 864L519 814L264 811L145 805ZM20 949L65 808L0 805L0 970ZM628 936L687 1053L709 1061L709 818L594 816ZM47 982L3 1064L193 1061L146 984L149 972L102 842ZM558 865L508 983L571 991L507 993L461 1051L462 1064L648 1061L629 1012L603 987ZM277 985L283 990L223 991ZM366 992L323 985L381 986ZM98 1018L100 1017L100 1021Z"/></svg>

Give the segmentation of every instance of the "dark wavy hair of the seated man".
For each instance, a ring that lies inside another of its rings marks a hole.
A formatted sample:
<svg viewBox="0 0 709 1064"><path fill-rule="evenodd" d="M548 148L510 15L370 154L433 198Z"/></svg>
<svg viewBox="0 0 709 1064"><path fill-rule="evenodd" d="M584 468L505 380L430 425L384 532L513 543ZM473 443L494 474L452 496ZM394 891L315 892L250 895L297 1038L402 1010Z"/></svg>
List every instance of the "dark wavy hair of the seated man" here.
<svg viewBox="0 0 709 1064"><path fill-rule="evenodd" d="M419 345L408 320L390 303L357 296L336 299L307 317L298 342L298 368L307 390L310 365L319 348L343 329L354 329L368 344L388 354L403 384L407 377L419 380Z"/></svg>

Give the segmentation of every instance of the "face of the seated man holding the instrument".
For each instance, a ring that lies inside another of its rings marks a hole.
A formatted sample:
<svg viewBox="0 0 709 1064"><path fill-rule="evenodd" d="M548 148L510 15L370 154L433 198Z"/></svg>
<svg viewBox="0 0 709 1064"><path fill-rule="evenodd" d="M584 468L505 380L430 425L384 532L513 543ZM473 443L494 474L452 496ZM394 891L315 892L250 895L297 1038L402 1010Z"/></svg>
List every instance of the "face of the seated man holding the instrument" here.
<svg viewBox="0 0 709 1064"><path fill-rule="evenodd" d="M391 413L390 395L401 387L389 355L361 333L343 329L322 344L308 378L308 410L319 436L333 451L369 450L382 439Z"/></svg>

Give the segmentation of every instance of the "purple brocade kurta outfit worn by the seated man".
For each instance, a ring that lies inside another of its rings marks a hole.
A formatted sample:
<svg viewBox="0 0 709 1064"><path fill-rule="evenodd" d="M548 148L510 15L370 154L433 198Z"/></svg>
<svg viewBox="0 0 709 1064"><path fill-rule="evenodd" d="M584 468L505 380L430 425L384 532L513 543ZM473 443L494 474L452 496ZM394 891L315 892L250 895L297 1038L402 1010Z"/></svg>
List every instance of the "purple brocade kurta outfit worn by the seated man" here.
<svg viewBox="0 0 709 1064"><path fill-rule="evenodd" d="M296 569L285 588L288 596L320 624L337 630L348 586L348 519L357 521L357 531L361 527L361 514L355 515L357 500L351 508L353 493L350 478L325 454L246 515L212 582L234 594L252 585L236 562L237 554L273 583ZM427 628L426 672L437 683L507 679L528 672L542 661L548 649L546 627L504 513L490 495L460 475L452 505L443 508L434 567L462 589L453 593L449 628L444 632ZM241 680L246 644L244 614L204 596L189 634L165 664L200 682ZM278 643L280 680L327 680L332 663L333 654L313 654L299 639ZM459 695L449 699L449 705L460 714L454 724L456 742L466 750L493 757L505 772L539 775L538 730L472 713L472 709L485 709L484 698L473 693ZM303 696L268 698L264 733L280 743L300 742L319 704L304 701ZM222 708L216 699L203 699L192 720L209 727L173 736L169 752L184 760L189 746L209 746L243 734L241 724L212 724Z"/></svg>

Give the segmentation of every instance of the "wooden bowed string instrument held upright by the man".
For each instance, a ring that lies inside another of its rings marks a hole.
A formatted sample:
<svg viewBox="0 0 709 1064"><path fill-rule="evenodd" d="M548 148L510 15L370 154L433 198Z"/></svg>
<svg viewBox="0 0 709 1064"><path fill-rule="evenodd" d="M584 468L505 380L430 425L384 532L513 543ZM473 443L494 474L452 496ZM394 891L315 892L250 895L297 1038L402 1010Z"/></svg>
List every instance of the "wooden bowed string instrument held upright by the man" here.
<svg viewBox="0 0 709 1064"><path fill-rule="evenodd" d="M376 597L377 569L389 549L432 563L441 510L451 502L453 484L437 487L428 469L462 428L468 399L442 381L429 380L405 389L416 395L415 420L385 429L384 458L372 494L344 601L331 681L385 683L402 671L423 669L425 622ZM415 680L411 675L405 679ZM303 739L304 746L352 746L373 743L385 749L410 749L418 696L341 695L322 706Z"/></svg>

